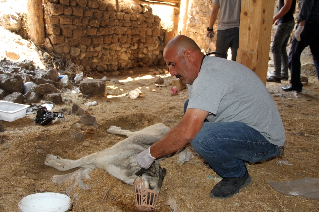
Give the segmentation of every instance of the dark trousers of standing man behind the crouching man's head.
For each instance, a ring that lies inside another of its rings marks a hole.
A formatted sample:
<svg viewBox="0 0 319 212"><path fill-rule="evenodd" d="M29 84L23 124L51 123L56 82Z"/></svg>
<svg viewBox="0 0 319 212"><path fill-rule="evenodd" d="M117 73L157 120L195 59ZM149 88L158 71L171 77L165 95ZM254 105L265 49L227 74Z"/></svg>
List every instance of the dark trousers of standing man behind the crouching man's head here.
<svg viewBox="0 0 319 212"><path fill-rule="evenodd" d="M239 28L217 30L216 57L227 59L227 51L232 50L232 60L236 61L237 49L239 43Z"/></svg>

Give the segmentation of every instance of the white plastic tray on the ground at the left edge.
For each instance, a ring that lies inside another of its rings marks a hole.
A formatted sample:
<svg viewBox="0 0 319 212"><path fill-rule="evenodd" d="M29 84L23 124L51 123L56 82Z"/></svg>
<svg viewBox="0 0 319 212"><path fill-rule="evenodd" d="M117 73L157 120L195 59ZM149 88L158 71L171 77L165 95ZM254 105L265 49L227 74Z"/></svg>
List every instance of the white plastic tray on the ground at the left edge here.
<svg viewBox="0 0 319 212"><path fill-rule="evenodd" d="M30 105L17 104L8 101L0 101L0 120L15 121L26 116Z"/></svg>

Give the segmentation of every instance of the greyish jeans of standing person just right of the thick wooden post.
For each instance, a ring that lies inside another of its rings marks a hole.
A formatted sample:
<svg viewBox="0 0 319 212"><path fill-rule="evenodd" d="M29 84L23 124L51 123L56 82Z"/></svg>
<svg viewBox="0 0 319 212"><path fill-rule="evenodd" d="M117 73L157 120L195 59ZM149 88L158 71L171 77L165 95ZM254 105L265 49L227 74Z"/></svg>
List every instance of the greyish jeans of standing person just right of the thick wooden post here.
<svg viewBox="0 0 319 212"><path fill-rule="evenodd" d="M273 37L271 52L275 71L272 76L278 79L281 79L281 77L288 79L288 55L286 47L293 28L294 21L280 23Z"/></svg>

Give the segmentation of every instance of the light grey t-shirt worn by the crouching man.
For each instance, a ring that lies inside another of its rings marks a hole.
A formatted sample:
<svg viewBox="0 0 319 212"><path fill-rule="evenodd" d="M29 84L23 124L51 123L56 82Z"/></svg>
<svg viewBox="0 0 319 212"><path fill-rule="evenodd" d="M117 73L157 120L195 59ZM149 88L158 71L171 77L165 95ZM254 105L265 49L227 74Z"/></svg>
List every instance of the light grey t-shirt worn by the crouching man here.
<svg viewBox="0 0 319 212"><path fill-rule="evenodd" d="M282 146L285 131L278 109L262 80L235 61L206 56L189 90L189 108L209 112L209 122L242 122L272 144Z"/></svg>

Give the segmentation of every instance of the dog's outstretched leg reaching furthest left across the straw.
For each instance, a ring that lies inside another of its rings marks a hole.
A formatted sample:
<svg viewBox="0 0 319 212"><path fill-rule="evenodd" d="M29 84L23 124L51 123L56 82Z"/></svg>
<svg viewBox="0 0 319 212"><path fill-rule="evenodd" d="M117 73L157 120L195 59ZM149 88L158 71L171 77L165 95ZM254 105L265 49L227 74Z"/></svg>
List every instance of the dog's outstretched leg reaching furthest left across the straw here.
<svg viewBox="0 0 319 212"><path fill-rule="evenodd" d="M96 158L97 154L98 153L96 152L74 161L69 159L63 159L55 155L47 155L44 164L47 166L51 166L59 171L67 171L77 167L94 169L96 168L96 166L93 164L93 160Z"/></svg>

